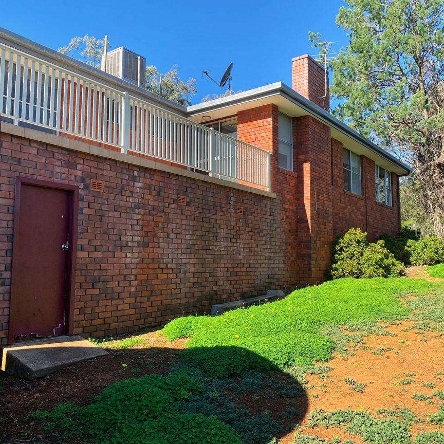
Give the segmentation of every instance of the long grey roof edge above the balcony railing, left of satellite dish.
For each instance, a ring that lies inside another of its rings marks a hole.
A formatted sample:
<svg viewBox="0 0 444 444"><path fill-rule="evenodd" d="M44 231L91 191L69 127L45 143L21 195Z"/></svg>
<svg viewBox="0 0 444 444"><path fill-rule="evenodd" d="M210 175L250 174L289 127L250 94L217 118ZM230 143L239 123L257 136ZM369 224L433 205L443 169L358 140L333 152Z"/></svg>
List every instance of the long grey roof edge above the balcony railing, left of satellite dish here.
<svg viewBox="0 0 444 444"><path fill-rule="evenodd" d="M43 59L43 61L49 61L49 63L59 66L62 69L73 71L74 73L89 78L93 81L105 83L105 85L109 84L109 86L122 92L127 91L137 98L146 100L162 108L167 108L173 113L177 113L182 116L187 114L186 106L180 105L176 102L172 102L171 100L151 93L144 88L125 82L124 80L112 76L107 72L102 71L101 69L73 59L72 57L69 57L69 55L61 54L58 51L54 51L53 49L47 48L46 46L26 39L21 35L15 34L14 32L11 32L2 27L0 27L0 42L4 43L7 46L12 46L13 48L22 50L23 52L33 55L33 57L36 57L38 59Z"/></svg>

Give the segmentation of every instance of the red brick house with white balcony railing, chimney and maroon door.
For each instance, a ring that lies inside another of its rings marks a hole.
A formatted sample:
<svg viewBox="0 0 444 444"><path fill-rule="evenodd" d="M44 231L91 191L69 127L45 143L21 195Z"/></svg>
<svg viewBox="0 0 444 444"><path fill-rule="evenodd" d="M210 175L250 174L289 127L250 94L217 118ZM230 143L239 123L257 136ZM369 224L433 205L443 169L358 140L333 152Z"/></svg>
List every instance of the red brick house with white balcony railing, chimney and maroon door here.
<svg viewBox="0 0 444 444"><path fill-rule="evenodd" d="M326 111L307 55L291 88L184 107L0 28L0 91L2 345L318 282L335 236L399 232L408 167Z"/></svg>

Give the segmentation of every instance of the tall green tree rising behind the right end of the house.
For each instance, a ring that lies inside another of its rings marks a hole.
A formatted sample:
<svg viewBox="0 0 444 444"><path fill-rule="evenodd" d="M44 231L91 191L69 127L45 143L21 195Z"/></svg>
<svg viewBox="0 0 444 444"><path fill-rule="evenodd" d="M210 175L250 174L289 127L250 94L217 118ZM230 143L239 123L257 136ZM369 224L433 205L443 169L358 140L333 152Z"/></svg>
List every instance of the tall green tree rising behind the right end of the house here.
<svg viewBox="0 0 444 444"><path fill-rule="evenodd" d="M345 0L334 114L414 168L420 211L444 236L444 0ZM316 35L316 34L315 34Z"/></svg>

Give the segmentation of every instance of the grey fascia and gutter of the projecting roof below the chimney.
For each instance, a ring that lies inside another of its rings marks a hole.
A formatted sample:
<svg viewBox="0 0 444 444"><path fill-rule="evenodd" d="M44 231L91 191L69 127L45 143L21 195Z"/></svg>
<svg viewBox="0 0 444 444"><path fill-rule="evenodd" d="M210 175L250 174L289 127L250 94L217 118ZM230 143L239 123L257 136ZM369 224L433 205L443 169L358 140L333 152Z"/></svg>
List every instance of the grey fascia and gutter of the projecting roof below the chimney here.
<svg viewBox="0 0 444 444"><path fill-rule="evenodd" d="M304 109L308 114L317 117L322 122L327 125L335 128L346 136L352 138L360 145L365 146L368 150L376 153L377 155L383 157L387 161L395 164L397 167L405 171L405 175L411 174L413 170L397 159L395 156L387 153L381 147L368 140L355 130L352 130L348 125L338 120L336 117L333 117L331 114L327 113L320 106L315 103L309 101L305 97L301 96L299 93L294 91L294 89L290 88L288 85L282 82L271 83L269 85L261 86L260 88L250 89L249 91L244 91L243 93L238 93L233 96L223 97L216 100L211 100L205 103L199 103L197 105L189 106L188 116L192 116L194 114L200 114L202 112L211 112L214 109L220 109L223 107L237 105L239 103L245 103L252 100L263 99L265 97L275 95L281 95L285 97L287 100L297 104L299 107Z"/></svg>

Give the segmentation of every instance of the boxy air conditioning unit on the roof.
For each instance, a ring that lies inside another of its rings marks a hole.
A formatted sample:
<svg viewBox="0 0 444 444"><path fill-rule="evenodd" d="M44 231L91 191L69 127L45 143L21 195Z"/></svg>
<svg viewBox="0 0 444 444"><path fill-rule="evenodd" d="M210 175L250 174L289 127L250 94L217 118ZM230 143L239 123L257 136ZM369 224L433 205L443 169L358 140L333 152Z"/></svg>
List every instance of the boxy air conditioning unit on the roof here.
<svg viewBox="0 0 444 444"><path fill-rule="evenodd" d="M103 71L142 88L145 86L145 67L144 57L123 46L106 53L106 65L105 54L102 55Z"/></svg>

